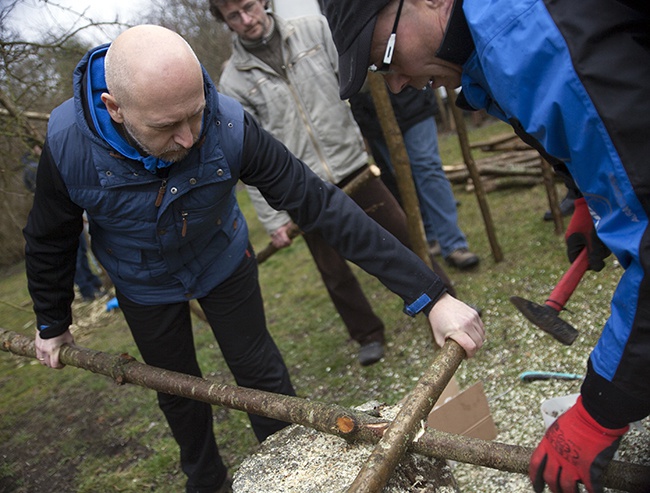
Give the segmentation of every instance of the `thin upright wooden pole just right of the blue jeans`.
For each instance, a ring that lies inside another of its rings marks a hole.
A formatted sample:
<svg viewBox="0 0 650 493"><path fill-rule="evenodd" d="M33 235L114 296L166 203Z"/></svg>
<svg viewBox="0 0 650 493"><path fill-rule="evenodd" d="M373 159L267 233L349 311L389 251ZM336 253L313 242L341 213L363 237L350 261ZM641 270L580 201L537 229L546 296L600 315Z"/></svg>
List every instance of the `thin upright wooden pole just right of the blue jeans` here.
<svg viewBox="0 0 650 493"><path fill-rule="evenodd" d="M467 127L465 126L465 120L463 119L463 112L458 106L456 106L456 93L454 92L454 89L445 89L447 90L449 107L451 108L451 112L454 116L454 121L456 122L456 132L458 133L460 149L463 153L463 161L465 161L469 175L472 178L472 182L474 182L474 192L476 194L476 200L478 200L479 207L481 208L481 214L483 215L483 222L485 223L485 230L487 231L490 248L492 249L492 256L494 257L495 262L501 262L503 260L503 253L501 252L501 247L497 241L494 222L492 221L492 215L490 213L490 207L487 202L485 189L483 188L483 183L481 181L481 175L478 172L474 159L472 158L472 152L469 145L469 137L467 135Z"/></svg>

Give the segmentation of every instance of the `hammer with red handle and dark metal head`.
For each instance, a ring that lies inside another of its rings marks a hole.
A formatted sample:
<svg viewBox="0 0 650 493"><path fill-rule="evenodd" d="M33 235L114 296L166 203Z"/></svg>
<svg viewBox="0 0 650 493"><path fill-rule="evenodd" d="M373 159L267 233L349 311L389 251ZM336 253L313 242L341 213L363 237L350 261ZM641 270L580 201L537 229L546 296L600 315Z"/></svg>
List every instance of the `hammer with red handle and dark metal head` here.
<svg viewBox="0 0 650 493"><path fill-rule="evenodd" d="M551 334L562 344L570 346L578 337L578 331L560 318L560 311L564 309L564 305L569 301L573 291L575 291L582 276L587 271L587 267L589 267L589 259L585 248L573 261L569 270L564 273L560 282L553 288L543 305L533 303L519 296L511 296L510 301L528 320L543 331Z"/></svg>

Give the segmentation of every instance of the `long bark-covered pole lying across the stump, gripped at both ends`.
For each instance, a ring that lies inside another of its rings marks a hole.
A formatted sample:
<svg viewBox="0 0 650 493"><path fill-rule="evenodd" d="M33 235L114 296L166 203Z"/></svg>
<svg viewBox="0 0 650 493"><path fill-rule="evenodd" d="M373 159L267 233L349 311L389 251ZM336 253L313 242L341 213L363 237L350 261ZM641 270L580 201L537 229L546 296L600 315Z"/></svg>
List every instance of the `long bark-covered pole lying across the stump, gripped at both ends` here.
<svg viewBox="0 0 650 493"><path fill-rule="evenodd" d="M0 350L36 358L32 338L3 328L0 328ZM110 355L65 345L61 348L60 359L65 365L108 376L120 385L131 383L157 392L300 424L351 443L378 443L390 424L335 404L218 384L204 378L162 370L139 363L127 354ZM464 437L430 428L417 441L410 441L408 450L427 457L519 474L528 474L528 463L533 452L529 447ZM603 476L604 487L632 493L647 493L649 484L650 467L639 464L612 461Z"/></svg>

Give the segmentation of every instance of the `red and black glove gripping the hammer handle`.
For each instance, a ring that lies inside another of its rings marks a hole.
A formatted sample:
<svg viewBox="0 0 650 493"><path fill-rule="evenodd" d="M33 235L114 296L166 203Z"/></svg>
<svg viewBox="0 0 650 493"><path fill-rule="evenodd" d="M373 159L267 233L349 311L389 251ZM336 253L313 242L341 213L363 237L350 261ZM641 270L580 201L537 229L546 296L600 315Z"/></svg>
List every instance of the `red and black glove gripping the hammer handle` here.
<svg viewBox="0 0 650 493"><path fill-rule="evenodd" d="M567 256L569 261L573 263L582 249L586 248L589 257L589 270L600 272L605 267L605 259L612 252L598 238L584 197L576 199L573 203L575 210L564 234Z"/></svg>

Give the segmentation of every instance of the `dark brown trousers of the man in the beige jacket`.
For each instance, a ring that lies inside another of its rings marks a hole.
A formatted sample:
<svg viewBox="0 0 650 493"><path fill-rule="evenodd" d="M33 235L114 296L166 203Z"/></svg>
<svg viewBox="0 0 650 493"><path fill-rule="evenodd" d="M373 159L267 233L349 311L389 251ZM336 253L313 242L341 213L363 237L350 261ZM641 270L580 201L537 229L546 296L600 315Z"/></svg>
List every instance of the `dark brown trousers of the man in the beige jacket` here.
<svg viewBox="0 0 650 493"><path fill-rule="evenodd" d="M355 174L346 178L339 186L344 186ZM381 180L370 179L355 191L352 199L368 216L410 248L406 214ZM346 260L327 244L320 233L306 233L304 238L350 337L362 345L373 341L383 343L384 324L372 311ZM431 261L436 273L454 295L455 290L447 274L433 258Z"/></svg>

